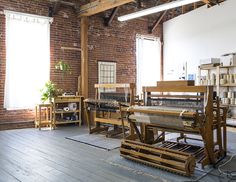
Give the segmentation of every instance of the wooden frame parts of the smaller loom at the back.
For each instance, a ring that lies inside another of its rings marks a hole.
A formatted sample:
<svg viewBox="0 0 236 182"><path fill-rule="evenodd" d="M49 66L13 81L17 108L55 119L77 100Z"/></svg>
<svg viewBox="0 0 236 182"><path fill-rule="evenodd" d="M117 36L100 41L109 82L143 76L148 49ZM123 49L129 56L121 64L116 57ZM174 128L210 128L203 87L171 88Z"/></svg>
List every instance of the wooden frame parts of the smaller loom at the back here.
<svg viewBox="0 0 236 182"><path fill-rule="evenodd" d="M119 88L128 88L129 89L129 94L130 94L130 102L129 105L132 106L135 103L135 84L134 83L120 83L120 84L95 84L94 85L96 89L96 94L95 94L95 99L99 100L99 89L104 88L104 89L119 89ZM85 104L86 106L86 104ZM101 111L95 111L94 113L94 124L95 127L92 128L92 123L90 119L90 112L88 111L88 107L86 106L86 117L88 121L88 127L89 127L89 133L96 133L96 132L102 132L106 131L107 132L107 137L111 137L120 133L124 133L124 127L130 127L129 123L127 120L123 120L121 118L112 118L112 113L111 112L101 112ZM113 113L114 114L114 113ZM115 113L118 117L120 117L120 110ZM107 116L107 117L106 117ZM109 126L102 126L102 124L110 124L114 126L113 131L109 131ZM119 130L117 126L123 126L122 130Z"/></svg>

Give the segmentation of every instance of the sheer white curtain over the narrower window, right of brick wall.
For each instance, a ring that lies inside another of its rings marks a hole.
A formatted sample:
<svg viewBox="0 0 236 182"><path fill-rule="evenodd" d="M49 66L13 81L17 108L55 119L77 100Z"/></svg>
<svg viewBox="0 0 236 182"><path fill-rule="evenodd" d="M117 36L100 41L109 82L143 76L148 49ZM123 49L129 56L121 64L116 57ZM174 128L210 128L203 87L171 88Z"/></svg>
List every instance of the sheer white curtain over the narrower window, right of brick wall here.
<svg viewBox="0 0 236 182"><path fill-rule="evenodd" d="M161 42L157 37L136 36L137 94L143 86L155 86L160 80Z"/></svg>

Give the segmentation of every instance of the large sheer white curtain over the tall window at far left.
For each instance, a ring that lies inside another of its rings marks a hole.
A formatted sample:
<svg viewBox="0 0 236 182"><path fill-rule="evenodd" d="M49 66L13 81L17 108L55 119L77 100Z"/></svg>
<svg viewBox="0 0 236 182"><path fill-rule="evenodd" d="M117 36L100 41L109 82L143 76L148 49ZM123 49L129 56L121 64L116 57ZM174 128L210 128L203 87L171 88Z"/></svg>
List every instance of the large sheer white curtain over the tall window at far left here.
<svg viewBox="0 0 236 182"><path fill-rule="evenodd" d="M48 17L5 11L6 80L4 107L30 109L50 75Z"/></svg>

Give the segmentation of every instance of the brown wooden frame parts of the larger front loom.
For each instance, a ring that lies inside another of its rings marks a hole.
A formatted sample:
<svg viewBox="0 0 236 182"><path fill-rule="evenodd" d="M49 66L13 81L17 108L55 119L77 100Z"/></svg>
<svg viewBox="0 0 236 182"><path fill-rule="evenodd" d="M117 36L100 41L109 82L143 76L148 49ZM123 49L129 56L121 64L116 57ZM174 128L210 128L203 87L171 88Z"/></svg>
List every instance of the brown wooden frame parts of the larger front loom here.
<svg viewBox="0 0 236 182"><path fill-rule="evenodd" d="M127 137L121 146L121 155L125 158L132 159L138 162L143 162L148 165L152 165L155 167L160 167L162 169L166 169L171 172L176 172L181 175L190 176L194 172L193 158L188 156L189 161L188 164L183 164L183 168L179 170L179 163L175 161L171 161L168 159L172 156L163 159L157 158L156 156L152 156L152 152L161 153L162 150L171 149L176 146L178 143L170 143L165 146L165 131L180 133L181 137L179 139L186 139L184 133L186 134L197 134L202 136L202 140L204 143L204 147L199 149L199 152L204 154L204 158L199 160L202 164L202 167L209 164L216 164L216 162L223 158L227 152L227 136L226 136L226 114L227 108L220 107L219 100L217 99L216 103L213 101L213 87L212 86L158 86L158 87L143 87L144 92L144 103L148 105L148 101L152 97L162 97L162 98L194 98L194 99L204 99L206 105L204 107L204 115L200 116L198 112L187 112L183 113L184 117L195 118L195 121L198 123L198 126L194 128L186 128L186 129L178 129L171 127L163 127L158 124L140 124L141 130L138 130L137 124L134 120L128 119L131 126L135 129L135 134ZM153 94L153 92L159 92L161 94ZM201 95L163 95L163 92L174 92L174 93L201 93ZM132 109L129 108L128 112L130 114L134 112L146 113L146 114L161 114L161 115L171 115L171 116L179 116L180 112L178 111L161 111L161 110L140 110L140 109ZM215 112L215 114L213 114ZM162 134L158 136L157 140L153 141L152 136L153 132L150 132L150 129L156 128L158 131L162 131ZM213 133L216 131L216 142L214 141ZM151 137L150 137L151 136ZM222 139L223 138L223 139ZM135 140L139 140L140 143ZM163 144L159 148L154 148L154 143L163 142ZM216 145L218 148L216 149ZM164 147L165 146L165 147ZM144 147L144 148L143 148ZM185 149L181 149L182 151L186 150L189 146L184 146ZM140 148L138 150L138 148ZM142 152L139 152L139 151ZM145 151L146 150L146 151ZM172 151L173 153L176 151ZM198 152L198 154L199 154ZM153 154L153 155L155 155ZM179 154L183 155L183 154ZM184 154L187 155L187 154ZM153 158L150 159L150 156ZM162 154L160 156L163 156ZM186 157L186 156L185 156ZM195 156L193 156L195 157ZM173 159L174 160L174 159ZM163 161L167 161L167 164L164 164ZM173 165L172 168L168 165ZM186 166L185 166L186 165ZM188 165L188 166L187 166Z"/></svg>

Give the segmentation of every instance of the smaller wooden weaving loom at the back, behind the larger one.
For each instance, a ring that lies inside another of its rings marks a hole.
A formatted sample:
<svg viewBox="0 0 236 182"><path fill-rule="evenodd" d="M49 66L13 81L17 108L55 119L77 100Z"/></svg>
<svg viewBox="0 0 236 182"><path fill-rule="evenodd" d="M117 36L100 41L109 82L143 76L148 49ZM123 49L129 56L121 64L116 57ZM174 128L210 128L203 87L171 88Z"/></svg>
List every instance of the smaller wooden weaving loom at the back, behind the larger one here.
<svg viewBox="0 0 236 182"><path fill-rule="evenodd" d="M124 128L129 127L128 121L121 120L120 106L134 105L134 84L95 84L95 99L85 99L86 116L89 133L106 132L111 137L124 133ZM91 118L91 111L94 117ZM92 120L95 127L92 127ZM122 125L122 122L123 125ZM125 126L125 127L121 127ZM113 127L112 130L109 128Z"/></svg>

